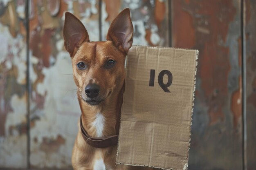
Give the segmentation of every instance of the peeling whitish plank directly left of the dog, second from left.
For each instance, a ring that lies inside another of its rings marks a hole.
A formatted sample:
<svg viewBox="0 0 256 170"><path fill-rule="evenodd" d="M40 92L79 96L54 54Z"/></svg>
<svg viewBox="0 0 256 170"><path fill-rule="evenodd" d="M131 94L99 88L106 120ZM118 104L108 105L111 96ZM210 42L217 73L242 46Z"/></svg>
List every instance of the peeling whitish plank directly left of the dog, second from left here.
<svg viewBox="0 0 256 170"><path fill-rule="evenodd" d="M71 168L81 112L71 59L63 46L64 12L74 13L90 40L98 41L98 1L30 2L31 167Z"/></svg>

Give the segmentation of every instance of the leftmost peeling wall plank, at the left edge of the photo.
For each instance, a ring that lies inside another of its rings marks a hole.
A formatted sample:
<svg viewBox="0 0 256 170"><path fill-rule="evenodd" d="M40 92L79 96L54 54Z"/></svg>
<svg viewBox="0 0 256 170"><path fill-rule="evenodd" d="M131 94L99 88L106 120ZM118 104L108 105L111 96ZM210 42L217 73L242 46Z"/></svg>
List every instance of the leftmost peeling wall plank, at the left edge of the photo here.
<svg viewBox="0 0 256 170"><path fill-rule="evenodd" d="M25 1L0 2L0 167L27 167Z"/></svg>

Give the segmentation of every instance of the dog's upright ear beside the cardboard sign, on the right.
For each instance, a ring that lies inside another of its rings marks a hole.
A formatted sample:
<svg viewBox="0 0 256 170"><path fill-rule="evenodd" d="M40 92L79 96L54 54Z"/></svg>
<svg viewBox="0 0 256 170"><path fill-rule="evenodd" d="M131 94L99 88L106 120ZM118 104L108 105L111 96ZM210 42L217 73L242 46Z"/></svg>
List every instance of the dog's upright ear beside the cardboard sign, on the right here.
<svg viewBox="0 0 256 170"><path fill-rule="evenodd" d="M130 9L121 11L110 24L107 40L114 42L121 51L128 53L132 46L133 26L130 18Z"/></svg>

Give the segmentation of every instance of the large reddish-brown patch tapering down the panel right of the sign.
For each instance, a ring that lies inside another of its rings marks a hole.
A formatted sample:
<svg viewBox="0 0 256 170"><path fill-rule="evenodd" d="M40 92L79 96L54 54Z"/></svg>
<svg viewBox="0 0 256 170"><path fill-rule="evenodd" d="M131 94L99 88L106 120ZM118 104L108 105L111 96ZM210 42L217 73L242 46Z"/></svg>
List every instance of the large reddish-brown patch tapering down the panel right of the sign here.
<svg viewBox="0 0 256 170"><path fill-rule="evenodd" d="M178 6L180 2L175 3ZM190 2L190 4L186 5L187 7L191 7L196 6L196 3ZM177 17L174 16L174 18L180 22L183 20L182 27L186 30L182 31L182 28L175 26L174 33L177 32L177 35L180 35L180 37L175 36L175 38L177 37L177 39L175 39L175 46L177 47L194 48L195 36L197 36L200 44L200 41L204 41L203 46L195 46L198 47L201 54L200 56L204 56L199 57L199 63L203 64L198 65L198 71L200 78L204 80L201 82L201 88L204 91L205 99L209 106L210 124L215 124L217 121L224 120L222 107L227 104L225 102L227 101L228 94L227 77L230 69L229 58L227 57L229 55L229 48L218 44L220 41L226 42L229 23L234 20L236 9L233 7L232 3L228 2L222 5L220 2L212 3L211 8L207 9L208 5L206 1L200 2L200 6L194 9L194 11L198 12L197 15L200 15L200 17L195 18L194 21L188 12L190 10L181 10L182 13L177 15ZM204 17L207 15L214 16L216 13L218 13L216 17ZM180 16L180 18L178 18L178 16ZM186 22L187 20L189 22ZM205 24L206 22L204 20L208 20L211 24ZM221 29L219 25L221 25ZM194 26L195 28L204 26L205 29L210 31L210 34L205 37L204 33L202 34L201 31L196 33Z"/></svg>

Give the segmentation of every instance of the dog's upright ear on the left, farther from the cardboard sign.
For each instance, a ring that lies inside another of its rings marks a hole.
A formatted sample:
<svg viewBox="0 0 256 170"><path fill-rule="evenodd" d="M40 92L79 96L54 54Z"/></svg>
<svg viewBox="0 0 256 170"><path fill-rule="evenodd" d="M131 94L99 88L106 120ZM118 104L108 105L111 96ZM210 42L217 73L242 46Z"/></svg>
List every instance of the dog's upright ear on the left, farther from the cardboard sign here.
<svg viewBox="0 0 256 170"><path fill-rule="evenodd" d="M64 46L70 56L77 51L83 42L89 42L89 35L83 26L72 13L65 13L65 22L63 28Z"/></svg>

